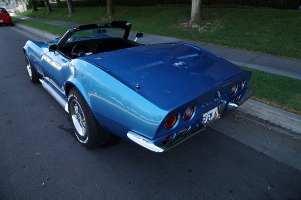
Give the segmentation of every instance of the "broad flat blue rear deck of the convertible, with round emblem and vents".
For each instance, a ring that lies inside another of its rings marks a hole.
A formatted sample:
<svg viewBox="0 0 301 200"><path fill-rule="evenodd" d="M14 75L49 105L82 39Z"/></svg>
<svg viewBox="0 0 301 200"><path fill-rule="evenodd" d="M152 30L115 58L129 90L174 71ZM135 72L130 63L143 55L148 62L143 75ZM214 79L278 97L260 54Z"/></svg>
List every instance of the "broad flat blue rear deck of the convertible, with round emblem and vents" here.
<svg viewBox="0 0 301 200"><path fill-rule="evenodd" d="M189 101L244 71L186 43L136 46L79 59L101 67L159 107Z"/></svg>

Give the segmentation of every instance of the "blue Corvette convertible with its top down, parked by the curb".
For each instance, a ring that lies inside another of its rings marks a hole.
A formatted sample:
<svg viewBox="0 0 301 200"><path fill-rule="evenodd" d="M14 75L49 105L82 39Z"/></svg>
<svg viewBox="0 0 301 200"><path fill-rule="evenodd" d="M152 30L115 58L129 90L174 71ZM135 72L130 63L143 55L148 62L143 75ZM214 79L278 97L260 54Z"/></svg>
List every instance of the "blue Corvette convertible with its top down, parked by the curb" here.
<svg viewBox="0 0 301 200"><path fill-rule="evenodd" d="M247 87L250 71L187 43L130 40L130 27L127 21L80 25L24 46L30 80L69 112L87 147L113 133L162 152L254 93Z"/></svg>

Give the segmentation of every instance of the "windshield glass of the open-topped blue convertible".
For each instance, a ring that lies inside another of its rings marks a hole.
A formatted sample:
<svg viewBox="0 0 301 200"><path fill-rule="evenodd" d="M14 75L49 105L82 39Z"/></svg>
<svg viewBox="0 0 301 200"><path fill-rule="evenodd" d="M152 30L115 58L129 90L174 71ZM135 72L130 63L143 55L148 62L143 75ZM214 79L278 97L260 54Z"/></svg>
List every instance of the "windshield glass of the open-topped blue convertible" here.
<svg viewBox="0 0 301 200"><path fill-rule="evenodd" d="M86 39L95 39L95 38L123 38L124 28L112 28L112 27L103 27L103 28L92 28L85 30L75 31L66 42L86 40Z"/></svg>

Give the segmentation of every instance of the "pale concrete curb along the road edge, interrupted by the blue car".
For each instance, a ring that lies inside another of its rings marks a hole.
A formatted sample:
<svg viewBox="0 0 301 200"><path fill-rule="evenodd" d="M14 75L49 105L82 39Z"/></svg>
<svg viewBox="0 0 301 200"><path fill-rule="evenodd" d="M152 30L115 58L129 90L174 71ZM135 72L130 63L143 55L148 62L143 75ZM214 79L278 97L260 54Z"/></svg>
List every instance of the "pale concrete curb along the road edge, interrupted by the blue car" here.
<svg viewBox="0 0 301 200"><path fill-rule="evenodd" d="M16 26L31 31L32 33L35 33L49 40L59 37L59 35L48 33L33 27L29 27L27 25L16 23ZM177 40L176 38L171 39L174 39L174 41ZM300 115L252 99L248 99L244 104L242 104L237 109L237 112L241 113L242 115L254 118L255 120L260 119L261 122L267 124L280 126L281 128L287 129L290 133L301 136Z"/></svg>

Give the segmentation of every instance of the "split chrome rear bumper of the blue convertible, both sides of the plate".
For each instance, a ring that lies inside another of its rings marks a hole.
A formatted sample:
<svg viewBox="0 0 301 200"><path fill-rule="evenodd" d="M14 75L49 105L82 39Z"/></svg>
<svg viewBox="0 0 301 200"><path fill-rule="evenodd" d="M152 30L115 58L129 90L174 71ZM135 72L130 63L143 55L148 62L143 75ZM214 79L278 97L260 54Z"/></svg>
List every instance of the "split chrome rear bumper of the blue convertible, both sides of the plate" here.
<svg viewBox="0 0 301 200"><path fill-rule="evenodd" d="M220 105L220 108L221 108L221 116L226 116L228 114L230 114L231 112L233 112L239 105L241 105L242 103L244 103L247 99L249 99L252 95L254 94L254 90L250 89L250 88L247 88L246 89L246 92L244 94L244 96L238 101L238 102L229 102L228 104L228 107L226 109L224 109L225 107L225 102L222 103ZM224 111L222 111L224 110ZM146 137L143 137L133 131L128 131L127 132L127 137L129 139L131 139L132 141L134 141L135 143L149 149L149 150L152 150L152 151L155 151L155 152L163 152L163 151L166 151L174 146L176 146L177 144L181 143L182 141L184 141L185 139L191 137L192 135L204 130L206 128L206 126L200 122L200 127L189 132L188 134L185 134L183 135L182 137L180 138L177 138L175 140L172 140L170 143L168 143L167 145L164 145L164 146L158 146L154 143L153 140L150 140Z"/></svg>

